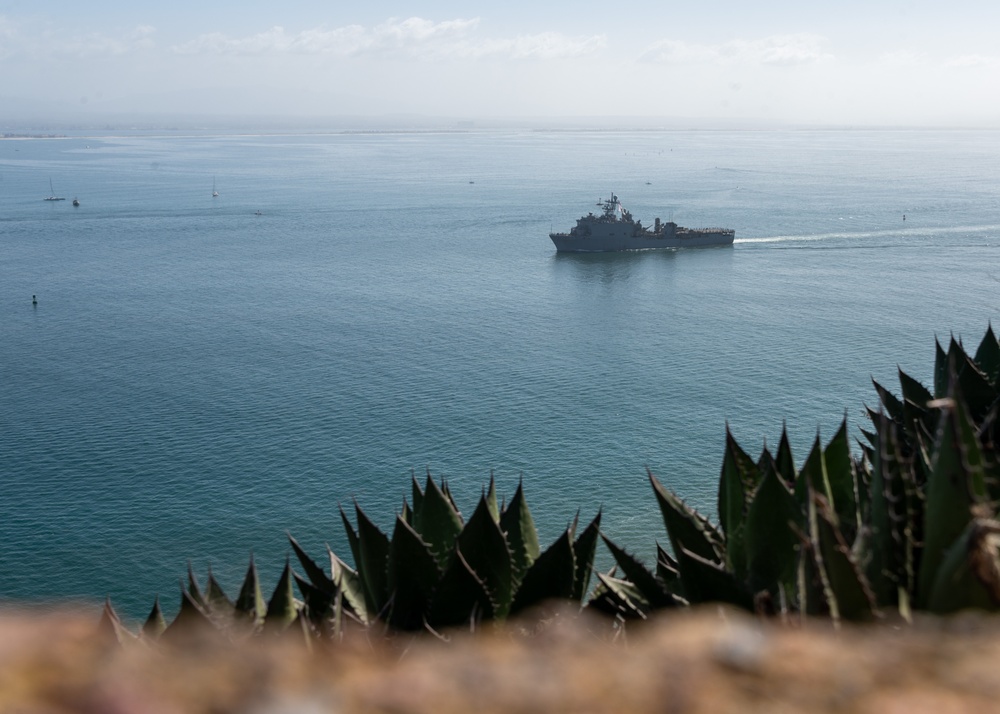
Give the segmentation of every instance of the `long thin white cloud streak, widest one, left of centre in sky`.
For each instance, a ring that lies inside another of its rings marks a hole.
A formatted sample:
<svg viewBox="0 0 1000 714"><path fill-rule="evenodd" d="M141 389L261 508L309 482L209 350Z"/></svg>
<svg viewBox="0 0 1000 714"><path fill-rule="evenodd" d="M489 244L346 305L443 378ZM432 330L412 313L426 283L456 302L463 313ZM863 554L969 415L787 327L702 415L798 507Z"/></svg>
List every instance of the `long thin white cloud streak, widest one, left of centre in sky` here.
<svg viewBox="0 0 1000 714"><path fill-rule="evenodd" d="M553 59L578 57L602 49L603 35L567 37L557 32L514 38L481 38L479 19L433 22L419 17L390 19L371 29L347 25L333 30L316 28L289 33L273 27L248 37L221 33L201 35L173 48L178 54L331 54L389 55L425 59Z"/></svg>

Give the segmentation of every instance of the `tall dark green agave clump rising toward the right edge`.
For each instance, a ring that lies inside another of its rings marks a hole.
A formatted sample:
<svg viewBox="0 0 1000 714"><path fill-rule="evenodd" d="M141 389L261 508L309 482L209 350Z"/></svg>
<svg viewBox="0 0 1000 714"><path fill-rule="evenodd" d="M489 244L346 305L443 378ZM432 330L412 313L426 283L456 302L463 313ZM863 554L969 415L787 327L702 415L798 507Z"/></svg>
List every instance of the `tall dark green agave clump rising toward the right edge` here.
<svg viewBox="0 0 1000 714"><path fill-rule="evenodd" d="M602 579L624 614L656 603L726 602L758 612L868 619L1000 605L998 375L987 329L975 357L937 345L934 393L902 370L903 397L875 383L861 457L846 418L802 467L787 432L756 461L726 433L714 525L649 475L674 558L657 573ZM609 546L611 544L609 543ZM613 552L615 548L612 547ZM641 567L641 566L640 566ZM606 602L608 600L606 599Z"/></svg>

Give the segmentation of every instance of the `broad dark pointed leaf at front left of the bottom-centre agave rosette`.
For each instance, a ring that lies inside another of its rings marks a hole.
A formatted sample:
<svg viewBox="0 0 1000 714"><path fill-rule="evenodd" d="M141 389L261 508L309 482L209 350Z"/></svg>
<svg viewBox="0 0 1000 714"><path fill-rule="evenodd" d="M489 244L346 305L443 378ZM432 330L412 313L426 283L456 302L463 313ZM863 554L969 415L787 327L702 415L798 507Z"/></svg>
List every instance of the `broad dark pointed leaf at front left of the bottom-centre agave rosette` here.
<svg viewBox="0 0 1000 714"><path fill-rule="evenodd" d="M397 518L389 544L389 624L402 630L422 628L440 578L430 547L406 521Z"/></svg>

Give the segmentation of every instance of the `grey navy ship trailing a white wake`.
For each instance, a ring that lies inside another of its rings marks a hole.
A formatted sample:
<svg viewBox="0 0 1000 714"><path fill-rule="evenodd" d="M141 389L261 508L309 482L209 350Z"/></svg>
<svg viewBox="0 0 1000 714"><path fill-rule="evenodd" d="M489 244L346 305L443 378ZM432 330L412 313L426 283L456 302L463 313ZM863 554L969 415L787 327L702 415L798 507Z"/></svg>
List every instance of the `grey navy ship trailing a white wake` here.
<svg viewBox="0 0 1000 714"><path fill-rule="evenodd" d="M709 245L732 245L736 231L731 228L682 228L673 221L661 223L657 218L652 228L632 219L618 196L598 203L604 212L588 213L576 221L569 233L549 233L560 253L607 253L620 250L651 248L696 248Z"/></svg>

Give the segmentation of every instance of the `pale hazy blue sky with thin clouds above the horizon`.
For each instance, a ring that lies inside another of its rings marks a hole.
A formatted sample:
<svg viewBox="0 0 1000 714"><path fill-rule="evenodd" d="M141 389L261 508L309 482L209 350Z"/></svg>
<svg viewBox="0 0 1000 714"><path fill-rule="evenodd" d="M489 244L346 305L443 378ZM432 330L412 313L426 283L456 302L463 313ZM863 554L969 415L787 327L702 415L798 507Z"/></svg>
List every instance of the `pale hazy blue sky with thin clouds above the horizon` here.
<svg viewBox="0 0 1000 714"><path fill-rule="evenodd" d="M0 0L36 106L1000 126L1000 0Z"/></svg>

